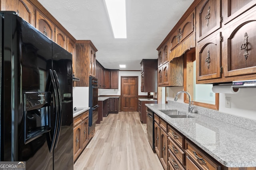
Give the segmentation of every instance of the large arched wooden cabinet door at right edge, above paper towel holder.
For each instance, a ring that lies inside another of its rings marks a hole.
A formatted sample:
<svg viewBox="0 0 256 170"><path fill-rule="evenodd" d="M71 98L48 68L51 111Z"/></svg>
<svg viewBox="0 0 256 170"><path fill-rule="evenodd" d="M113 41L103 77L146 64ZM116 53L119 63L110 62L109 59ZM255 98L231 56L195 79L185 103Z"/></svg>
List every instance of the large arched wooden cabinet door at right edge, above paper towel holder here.
<svg viewBox="0 0 256 170"><path fill-rule="evenodd" d="M224 29L224 76L256 74L256 7Z"/></svg>

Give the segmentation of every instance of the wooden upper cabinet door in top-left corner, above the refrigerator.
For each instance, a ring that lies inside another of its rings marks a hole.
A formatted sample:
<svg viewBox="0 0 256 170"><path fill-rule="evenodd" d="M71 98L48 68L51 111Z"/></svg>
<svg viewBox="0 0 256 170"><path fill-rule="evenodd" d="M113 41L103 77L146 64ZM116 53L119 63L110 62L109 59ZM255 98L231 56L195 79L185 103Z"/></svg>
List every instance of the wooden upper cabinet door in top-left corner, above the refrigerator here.
<svg viewBox="0 0 256 170"><path fill-rule="evenodd" d="M34 6L27 0L1 0L2 11L15 11L18 16L34 26Z"/></svg>

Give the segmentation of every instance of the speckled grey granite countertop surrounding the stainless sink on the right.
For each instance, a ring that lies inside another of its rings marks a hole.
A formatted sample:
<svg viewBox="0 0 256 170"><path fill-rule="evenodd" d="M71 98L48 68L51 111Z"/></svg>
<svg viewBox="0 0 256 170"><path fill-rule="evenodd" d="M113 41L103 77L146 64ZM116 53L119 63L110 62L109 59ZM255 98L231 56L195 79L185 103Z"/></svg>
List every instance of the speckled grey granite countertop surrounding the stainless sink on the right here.
<svg viewBox="0 0 256 170"><path fill-rule="evenodd" d="M255 132L187 111L194 118L170 118L160 110L180 108L168 104L146 106L224 166L256 167Z"/></svg>

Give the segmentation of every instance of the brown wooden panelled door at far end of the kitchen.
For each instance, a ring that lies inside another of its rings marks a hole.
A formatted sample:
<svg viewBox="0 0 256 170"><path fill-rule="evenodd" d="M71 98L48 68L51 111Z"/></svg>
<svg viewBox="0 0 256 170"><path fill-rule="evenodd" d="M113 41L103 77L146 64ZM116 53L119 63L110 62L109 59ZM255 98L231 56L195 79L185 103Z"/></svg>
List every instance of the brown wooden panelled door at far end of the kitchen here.
<svg viewBox="0 0 256 170"><path fill-rule="evenodd" d="M122 111L137 111L138 76L121 76Z"/></svg>

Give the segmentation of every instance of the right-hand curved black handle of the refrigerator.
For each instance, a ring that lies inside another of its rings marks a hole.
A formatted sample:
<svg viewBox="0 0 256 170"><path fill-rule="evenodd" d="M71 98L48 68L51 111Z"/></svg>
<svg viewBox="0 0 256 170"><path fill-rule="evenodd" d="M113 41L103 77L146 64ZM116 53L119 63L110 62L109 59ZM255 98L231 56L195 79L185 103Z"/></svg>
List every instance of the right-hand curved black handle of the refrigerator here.
<svg viewBox="0 0 256 170"><path fill-rule="evenodd" d="M59 119L58 119L58 128L57 128L57 135L56 135L56 140L54 143L54 149L57 148L58 145L58 141L60 138L60 129L61 129L61 124L62 124L62 98L61 98L61 94L60 94L60 84L59 84L59 80L58 80L58 75L57 72L55 70L53 70L54 73L54 78L56 80L56 85L57 85L57 93L58 93L58 102L59 102Z"/></svg>

